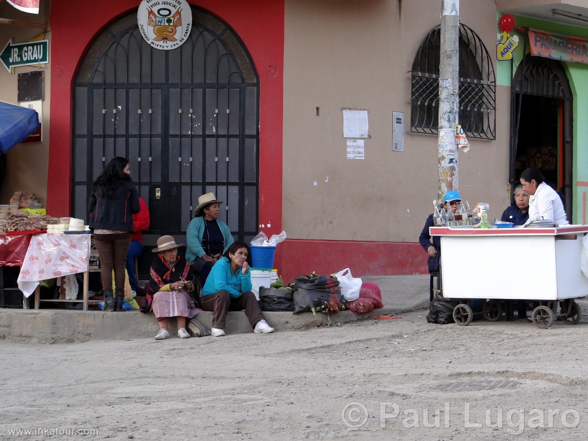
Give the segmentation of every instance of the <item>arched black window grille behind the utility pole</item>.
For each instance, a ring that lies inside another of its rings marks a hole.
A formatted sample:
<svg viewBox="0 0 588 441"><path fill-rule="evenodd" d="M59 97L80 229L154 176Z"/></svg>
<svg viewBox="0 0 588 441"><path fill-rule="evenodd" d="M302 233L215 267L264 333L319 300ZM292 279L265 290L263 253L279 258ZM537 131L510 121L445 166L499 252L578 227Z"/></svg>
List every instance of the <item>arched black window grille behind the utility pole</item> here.
<svg viewBox="0 0 588 441"><path fill-rule="evenodd" d="M437 133L441 28L436 26L416 51L412 65L410 131ZM459 25L459 123L467 136L496 139L496 76L479 36Z"/></svg>

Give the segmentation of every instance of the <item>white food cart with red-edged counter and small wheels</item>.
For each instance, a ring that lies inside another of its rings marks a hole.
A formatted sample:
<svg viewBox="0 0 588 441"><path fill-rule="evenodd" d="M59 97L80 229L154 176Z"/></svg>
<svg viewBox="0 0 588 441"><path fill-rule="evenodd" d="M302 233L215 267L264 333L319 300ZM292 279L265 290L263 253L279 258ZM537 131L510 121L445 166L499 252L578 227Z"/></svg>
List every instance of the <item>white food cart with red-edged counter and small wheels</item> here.
<svg viewBox="0 0 588 441"><path fill-rule="evenodd" d="M459 326L472 321L469 300L485 300L484 316L502 316L501 299L533 300L539 306L531 319L541 329L556 317L574 325L582 318L574 299L588 295L588 278L580 270L582 239L588 225L553 228L431 227L441 240L442 295L460 299L453 310ZM554 302L562 310L554 315Z"/></svg>

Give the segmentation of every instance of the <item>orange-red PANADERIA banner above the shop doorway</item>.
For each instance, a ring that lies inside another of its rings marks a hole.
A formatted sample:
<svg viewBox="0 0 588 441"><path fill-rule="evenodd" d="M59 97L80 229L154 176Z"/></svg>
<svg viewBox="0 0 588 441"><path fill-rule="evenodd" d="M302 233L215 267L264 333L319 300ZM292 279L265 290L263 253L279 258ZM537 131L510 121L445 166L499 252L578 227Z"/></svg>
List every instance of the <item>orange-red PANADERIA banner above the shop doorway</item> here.
<svg viewBox="0 0 588 441"><path fill-rule="evenodd" d="M529 29L531 54L554 60L588 64L586 40Z"/></svg>

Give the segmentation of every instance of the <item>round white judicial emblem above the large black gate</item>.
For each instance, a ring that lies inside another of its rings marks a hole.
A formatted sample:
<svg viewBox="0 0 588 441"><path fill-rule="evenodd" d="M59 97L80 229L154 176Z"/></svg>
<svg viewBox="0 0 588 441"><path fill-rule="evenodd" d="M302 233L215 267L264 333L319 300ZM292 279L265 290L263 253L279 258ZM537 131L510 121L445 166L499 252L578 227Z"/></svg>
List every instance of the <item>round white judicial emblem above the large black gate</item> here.
<svg viewBox="0 0 588 441"><path fill-rule="evenodd" d="M186 0L142 0L137 23L149 45L168 51L188 39L192 30L192 10Z"/></svg>

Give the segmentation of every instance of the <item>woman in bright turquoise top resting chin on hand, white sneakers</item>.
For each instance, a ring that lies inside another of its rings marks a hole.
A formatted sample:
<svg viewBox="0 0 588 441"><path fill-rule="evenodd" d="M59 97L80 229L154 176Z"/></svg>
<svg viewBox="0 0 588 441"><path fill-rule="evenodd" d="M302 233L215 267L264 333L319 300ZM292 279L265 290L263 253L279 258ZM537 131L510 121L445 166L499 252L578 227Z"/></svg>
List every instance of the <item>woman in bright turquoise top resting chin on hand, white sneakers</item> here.
<svg viewBox="0 0 588 441"><path fill-rule="evenodd" d="M201 308L213 313L212 336L225 335L226 313L242 311L251 323L253 332L267 334L273 328L265 321L255 294L251 292L251 270L247 263L249 247L244 242L233 242L225 256L212 267L200 295Z"/></svg>

